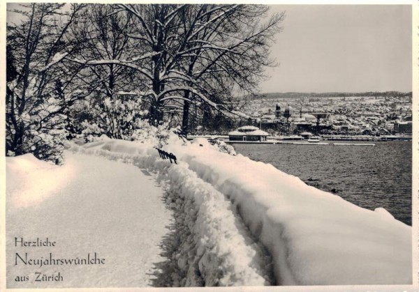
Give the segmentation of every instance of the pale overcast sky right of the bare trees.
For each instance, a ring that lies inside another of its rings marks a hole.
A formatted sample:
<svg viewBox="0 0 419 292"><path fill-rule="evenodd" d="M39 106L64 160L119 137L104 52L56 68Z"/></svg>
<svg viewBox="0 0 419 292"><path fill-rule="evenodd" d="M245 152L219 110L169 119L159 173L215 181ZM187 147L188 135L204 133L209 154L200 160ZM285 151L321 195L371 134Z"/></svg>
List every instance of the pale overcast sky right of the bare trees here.
<svg viewBox="0 0 419 292"><path fill-rule="evenodd" d="M272 6L286 10L268 92L411 91L411 6Z"/></svg>

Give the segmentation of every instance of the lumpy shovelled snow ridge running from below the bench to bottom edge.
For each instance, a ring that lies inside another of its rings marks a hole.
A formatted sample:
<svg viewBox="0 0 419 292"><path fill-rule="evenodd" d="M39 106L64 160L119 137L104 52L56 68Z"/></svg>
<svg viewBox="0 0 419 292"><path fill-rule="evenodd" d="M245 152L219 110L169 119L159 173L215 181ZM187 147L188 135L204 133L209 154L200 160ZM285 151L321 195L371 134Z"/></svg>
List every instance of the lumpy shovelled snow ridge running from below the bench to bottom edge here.
<svg viewBox="0 0 419 292"><path fill-rule="evenodd" d="M269 265L231 203L186 164L168 169L168 203L177 212L179 286L262 286ZM178 286L177 284L175 286Z"/></svg>

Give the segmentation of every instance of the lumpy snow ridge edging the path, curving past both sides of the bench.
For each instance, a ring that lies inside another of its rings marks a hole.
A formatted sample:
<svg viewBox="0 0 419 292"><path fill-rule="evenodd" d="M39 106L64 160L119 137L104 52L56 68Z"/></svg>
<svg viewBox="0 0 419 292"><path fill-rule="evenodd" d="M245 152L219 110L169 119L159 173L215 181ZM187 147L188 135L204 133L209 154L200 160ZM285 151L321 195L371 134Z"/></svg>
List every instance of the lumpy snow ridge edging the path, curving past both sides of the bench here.
<svg viewBox="0 0 419 292"><path fill-rule="evenodd" d="M201 142L215 149L206 140ZM69 148L147 167L159 174L163 185L167 183L166 201L175 211L177 237L171 255L177 268L168 269L170 286L270 284L269 256L249 236L223 194L198 178L187 164L170 164L149 145L128 141L96 141Z"/></svg>

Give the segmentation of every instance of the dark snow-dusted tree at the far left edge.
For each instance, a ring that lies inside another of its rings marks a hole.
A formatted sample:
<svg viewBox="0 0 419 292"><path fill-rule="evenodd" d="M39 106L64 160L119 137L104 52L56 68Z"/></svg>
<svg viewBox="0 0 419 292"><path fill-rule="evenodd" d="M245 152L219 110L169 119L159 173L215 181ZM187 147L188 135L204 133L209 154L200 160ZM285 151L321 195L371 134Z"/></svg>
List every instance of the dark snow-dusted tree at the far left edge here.
<svg viewBox="0 0 419 292"><path fill-rule="evenodd" d="M8 155L31 152L59 163L66 109L82 95L67 87L78 68L63 66L64 48L75 45L64 36L80 9L72 4L65 12L64 4L32 3L15 10L24 20L8 26L8 66L15 68L6 90Z"/></svg>

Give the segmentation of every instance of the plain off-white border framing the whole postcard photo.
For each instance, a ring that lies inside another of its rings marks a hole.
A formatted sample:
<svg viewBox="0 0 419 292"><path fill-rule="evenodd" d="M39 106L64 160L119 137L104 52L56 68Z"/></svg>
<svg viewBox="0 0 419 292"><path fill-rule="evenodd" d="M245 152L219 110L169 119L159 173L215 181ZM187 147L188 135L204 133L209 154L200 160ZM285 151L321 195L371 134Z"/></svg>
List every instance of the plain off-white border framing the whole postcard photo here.
<svg viewBox="0 0 419 292"><path fill-rule="evenodd" d="M5 96L6 96L6 4L20 2L31 3L30 0L21 1L0 1L0 291L6 291L6 167L5 167ZM43 2L57 2L44 0ZM66 1L81 2L81 1ZM89 1L89 3L106 3L110 1ZM112 1L115 3L115 1ZM209 288L91 288L91 289L7 289L7 291L419 291L419 1L307 1L307 0L241 0L241 1L177 1L177 0L154 0L154 1L118 1L118 2L140 2L140 3L263 3L263 4L298 4L298 5L411 5L412 6L412 91L413 91L413 147L412 147L412 263L413 263L413 285L362 285L362 286L263 286L263 287L209 287Z"/></svg>

